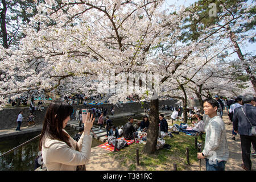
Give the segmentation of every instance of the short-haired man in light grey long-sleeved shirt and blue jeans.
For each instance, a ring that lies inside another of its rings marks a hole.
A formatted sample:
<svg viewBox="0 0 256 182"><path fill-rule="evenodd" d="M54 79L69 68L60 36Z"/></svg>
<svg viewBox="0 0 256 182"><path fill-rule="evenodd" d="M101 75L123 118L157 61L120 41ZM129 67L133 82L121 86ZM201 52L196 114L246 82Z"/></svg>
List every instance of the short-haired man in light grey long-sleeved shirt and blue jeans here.
<svg viewBox="0 0 256 182"><path fill-rule="evenodd" d="M218 102L213 98L204 100L204 113L210 118L205 125L205 146L197 153L198 159L205 159L207 171L225 171L229 158L225 123L217 115Z"/></svg>

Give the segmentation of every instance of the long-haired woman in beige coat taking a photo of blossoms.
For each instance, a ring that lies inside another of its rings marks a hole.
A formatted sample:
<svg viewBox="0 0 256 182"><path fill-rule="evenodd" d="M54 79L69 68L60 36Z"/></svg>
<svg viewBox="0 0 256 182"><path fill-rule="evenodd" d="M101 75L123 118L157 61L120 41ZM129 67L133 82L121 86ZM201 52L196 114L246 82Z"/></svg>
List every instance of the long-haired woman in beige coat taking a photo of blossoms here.
<svg viewBox="0 0 256 182"><path fill-rule="evenodd" d="M63 101L53 101L46 111L39 150L42 150L43 163L48 171L76 171L77 166L88 163L90 159L90 129L94 119L89 113L83 114L84 133L76 142L64 130L72 112L73 107Z"/></svg>

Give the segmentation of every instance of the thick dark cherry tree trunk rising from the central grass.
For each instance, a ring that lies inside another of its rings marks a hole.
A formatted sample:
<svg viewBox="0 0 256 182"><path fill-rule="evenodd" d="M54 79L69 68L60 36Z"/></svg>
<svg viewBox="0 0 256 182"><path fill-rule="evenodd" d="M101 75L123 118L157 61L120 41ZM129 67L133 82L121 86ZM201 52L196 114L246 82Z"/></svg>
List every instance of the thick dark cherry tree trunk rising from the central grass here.
<svg viewBox="0 0 256 182"><path fill-rule="evenodd" d="M145 154L154 154L156 151L156 143L158 142L159 133L159 100L151 100L150 113L149 113L150 125L147 130L147 142L143 148Z"/></svg>

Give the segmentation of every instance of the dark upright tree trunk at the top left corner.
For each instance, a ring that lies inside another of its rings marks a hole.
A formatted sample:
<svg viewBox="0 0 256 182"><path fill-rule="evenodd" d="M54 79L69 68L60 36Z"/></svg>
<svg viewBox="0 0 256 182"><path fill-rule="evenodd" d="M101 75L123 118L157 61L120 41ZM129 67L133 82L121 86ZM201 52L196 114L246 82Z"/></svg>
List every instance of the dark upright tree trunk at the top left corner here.
<svg viewBox="0 0 256 182"><path fill-rule="evenodd" d="M8 39L7 39L7 30L6 30L6 11L7 11L7 6L6 6L6 1L2 0L2 5L3 9L1 11L1 33L3 36L3 47L8 48Z"/></svg>

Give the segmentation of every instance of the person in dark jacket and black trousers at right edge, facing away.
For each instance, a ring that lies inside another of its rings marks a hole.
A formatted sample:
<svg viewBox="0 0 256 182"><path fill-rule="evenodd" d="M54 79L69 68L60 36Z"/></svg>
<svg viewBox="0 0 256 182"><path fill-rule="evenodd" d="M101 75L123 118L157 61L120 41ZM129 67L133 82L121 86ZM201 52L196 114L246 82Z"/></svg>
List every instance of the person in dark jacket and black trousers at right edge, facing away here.
<svg viewBox="0 0 256 182"><path fill-rule="evenodd" d="M242 97L243 106L237 107L233 115L234 131L240 134L242 160L241 167L246 171L251 170L251 143L256 145L256 135L252 134L253 126L256 126L256 107L253 106L254 98L251 94Z"/></svg>

